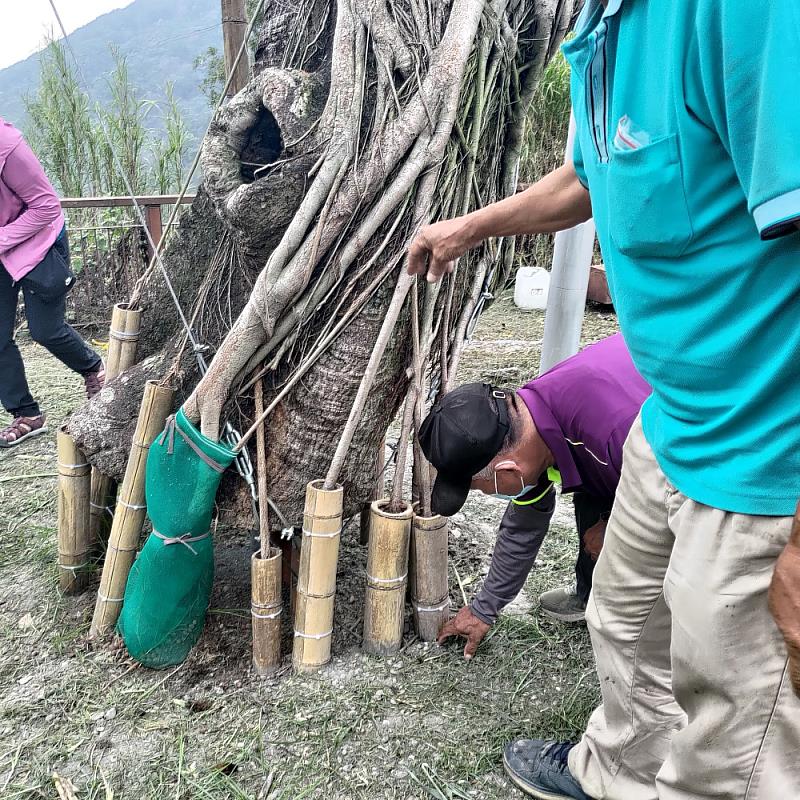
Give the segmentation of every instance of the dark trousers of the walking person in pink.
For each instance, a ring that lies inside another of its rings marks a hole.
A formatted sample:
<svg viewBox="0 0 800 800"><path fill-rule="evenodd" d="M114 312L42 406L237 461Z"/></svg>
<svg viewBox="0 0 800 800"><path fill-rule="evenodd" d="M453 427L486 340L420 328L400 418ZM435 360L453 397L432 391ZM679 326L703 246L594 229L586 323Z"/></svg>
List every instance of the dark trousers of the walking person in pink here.
<svg viewBox="0 0 800 800"><path fill-rule="evenodd" d="M53 247L59 248L61 255L69 261L66 236L61 236ZM0 402L14 417L35 417L41 411L28 389L25 366L14 341L20 288L25 299L28 330L35 342L81 375L97 371L101 361L100 356L64 320L66 295L44 302L25 285L25 278L14 283L8 272L0 267Z"/></svg>

